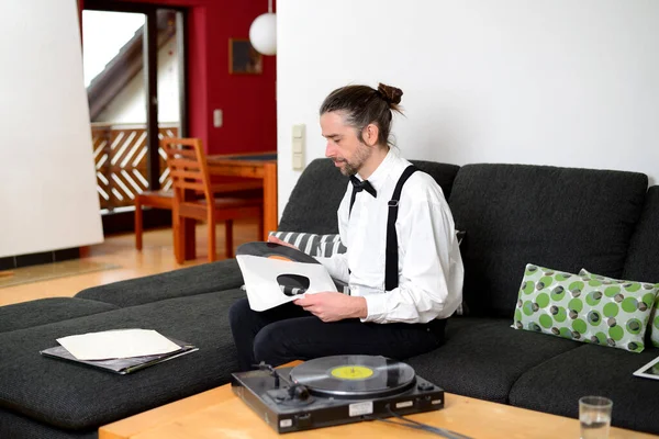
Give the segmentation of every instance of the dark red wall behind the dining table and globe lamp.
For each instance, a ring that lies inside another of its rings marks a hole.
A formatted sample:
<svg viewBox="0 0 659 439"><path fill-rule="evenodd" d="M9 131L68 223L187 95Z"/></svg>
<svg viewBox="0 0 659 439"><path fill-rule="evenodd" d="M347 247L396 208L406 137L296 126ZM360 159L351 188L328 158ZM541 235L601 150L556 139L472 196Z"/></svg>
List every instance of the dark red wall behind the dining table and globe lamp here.
<svg viewBox="0 0 659 439"><path fill-rule="evenodd" d="M264 56L263 75L228 74L228 38L247 38L267 0L131 1L188 8L189 136L209 154L277 150L276 57ZM223 112L220 128L214 109Z"/></svg>

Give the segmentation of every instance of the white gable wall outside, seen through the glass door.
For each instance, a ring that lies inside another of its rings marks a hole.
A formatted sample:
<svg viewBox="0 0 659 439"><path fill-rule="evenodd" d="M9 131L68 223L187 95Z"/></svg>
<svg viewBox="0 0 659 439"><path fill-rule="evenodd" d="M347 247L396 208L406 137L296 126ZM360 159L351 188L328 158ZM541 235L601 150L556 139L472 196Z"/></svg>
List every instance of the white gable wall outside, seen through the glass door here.
<svg viewBox="0 0 659 439"><path fill-rule="evenodd" d="M176 38L158 50L158 121L179 122L179 77ZM94 122L146 123L146 93L144 70L141 70L116 94Z"/></svg>

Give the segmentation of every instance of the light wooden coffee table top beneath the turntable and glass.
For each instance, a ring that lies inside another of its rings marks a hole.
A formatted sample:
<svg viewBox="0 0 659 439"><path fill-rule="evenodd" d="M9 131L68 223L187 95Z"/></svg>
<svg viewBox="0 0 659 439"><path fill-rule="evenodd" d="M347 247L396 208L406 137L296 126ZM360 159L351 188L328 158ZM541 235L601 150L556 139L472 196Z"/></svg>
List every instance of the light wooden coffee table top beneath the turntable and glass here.
<svg viewBox="0 0 659 439"><path fill-rule="evenodd" d="M300 362L287 364L292 367ZM445 394L445 408L410 416L420 423L473 438L578 438L579 420L502 404ZM428 438L428 434L379 421L364 421L286 435L276 434L223 385L199 395L107 425L99 439L209 438ZM432 435L431 435L432 436ZM619 428L611 438L656 438Z"/></svg>

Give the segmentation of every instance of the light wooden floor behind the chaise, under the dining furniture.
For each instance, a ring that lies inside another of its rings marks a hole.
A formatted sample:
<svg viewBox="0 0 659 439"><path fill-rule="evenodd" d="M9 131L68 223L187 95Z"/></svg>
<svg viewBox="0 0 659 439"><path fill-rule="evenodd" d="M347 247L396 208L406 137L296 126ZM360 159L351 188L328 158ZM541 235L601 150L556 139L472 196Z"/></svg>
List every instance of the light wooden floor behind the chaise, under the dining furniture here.
<svg viewBox="0 0 659 439"><path fill-rule="evenodd" d="M260 240L256 221L234 222L234 246ZM224 259L224 226L216 229L217 259ZM135 235L105 238L103 244L90 248L89 260L112 263L120 268L96 271L43 282L0 288L0 306L42 297L72 296L89 286L102 285L124 279L176 270L206 262L206 227L197 227L197 259L179 266L174 258L171 229L149 230L144 234L144 248L135 250Z"/></svg>

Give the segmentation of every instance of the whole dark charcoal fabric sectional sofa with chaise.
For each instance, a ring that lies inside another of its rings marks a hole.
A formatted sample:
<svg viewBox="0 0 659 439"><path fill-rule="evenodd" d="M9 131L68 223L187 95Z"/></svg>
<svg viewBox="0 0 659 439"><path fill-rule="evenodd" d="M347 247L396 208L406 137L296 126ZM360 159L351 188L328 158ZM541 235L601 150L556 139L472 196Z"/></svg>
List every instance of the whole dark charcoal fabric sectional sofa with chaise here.
<svg viewBox="0 0 659 439"><path fill-rule="evenodd" d="M614 401L613 425L659 434L659 357L511 327L526 263L659 282L659 187L644 175L524 165L415 161L442 185L461 245L467 315L445 344L404 359L446 391L577 417L587 394ZM332 234L347 184L309 165L279 229ZM234 259L0 307L0 438L94 438L101 425L225 384L236 369L227 308L244 296ZM132 375L46 359L66 335L153 328L199 346Z"/></svg>

